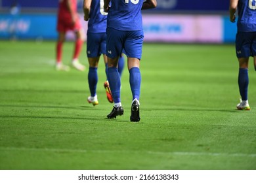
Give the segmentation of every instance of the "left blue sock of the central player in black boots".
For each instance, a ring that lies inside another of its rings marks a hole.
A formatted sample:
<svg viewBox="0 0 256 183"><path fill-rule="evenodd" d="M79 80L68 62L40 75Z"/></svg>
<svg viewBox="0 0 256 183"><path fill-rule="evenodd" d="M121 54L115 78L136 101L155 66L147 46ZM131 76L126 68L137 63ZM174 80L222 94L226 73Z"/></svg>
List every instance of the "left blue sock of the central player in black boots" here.
<svg viewBox="0 0 256 183"><path fill-rule="evenodd" d="M108 67L108 82L110 84L110 90L114 103L120 103L121 80L116 67Z"/></svg>

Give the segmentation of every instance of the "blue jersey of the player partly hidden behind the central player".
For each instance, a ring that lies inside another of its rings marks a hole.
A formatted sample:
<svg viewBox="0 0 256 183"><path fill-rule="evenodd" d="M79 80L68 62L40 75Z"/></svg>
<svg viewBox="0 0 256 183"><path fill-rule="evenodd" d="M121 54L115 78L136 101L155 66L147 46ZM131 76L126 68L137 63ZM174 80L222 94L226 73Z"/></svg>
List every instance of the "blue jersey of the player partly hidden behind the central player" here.
<svg viewBox="0 0 256 183"><path fill-rule="evenodd" d="M89 14L88 32L106 33L107 14L104 12L104 0L93 0Z"/></svg>

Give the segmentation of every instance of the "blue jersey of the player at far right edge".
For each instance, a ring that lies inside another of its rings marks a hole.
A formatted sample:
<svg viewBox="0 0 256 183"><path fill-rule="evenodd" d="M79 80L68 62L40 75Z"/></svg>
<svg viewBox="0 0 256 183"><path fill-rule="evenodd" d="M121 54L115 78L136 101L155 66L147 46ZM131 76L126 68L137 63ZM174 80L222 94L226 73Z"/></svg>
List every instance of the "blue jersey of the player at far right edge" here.
<svg viewBox="0 0 256 183"><path fill-rule="evenodd" d="M239 0L238 1L238 31L255 32L256 31L256 1Z"/></svg>

